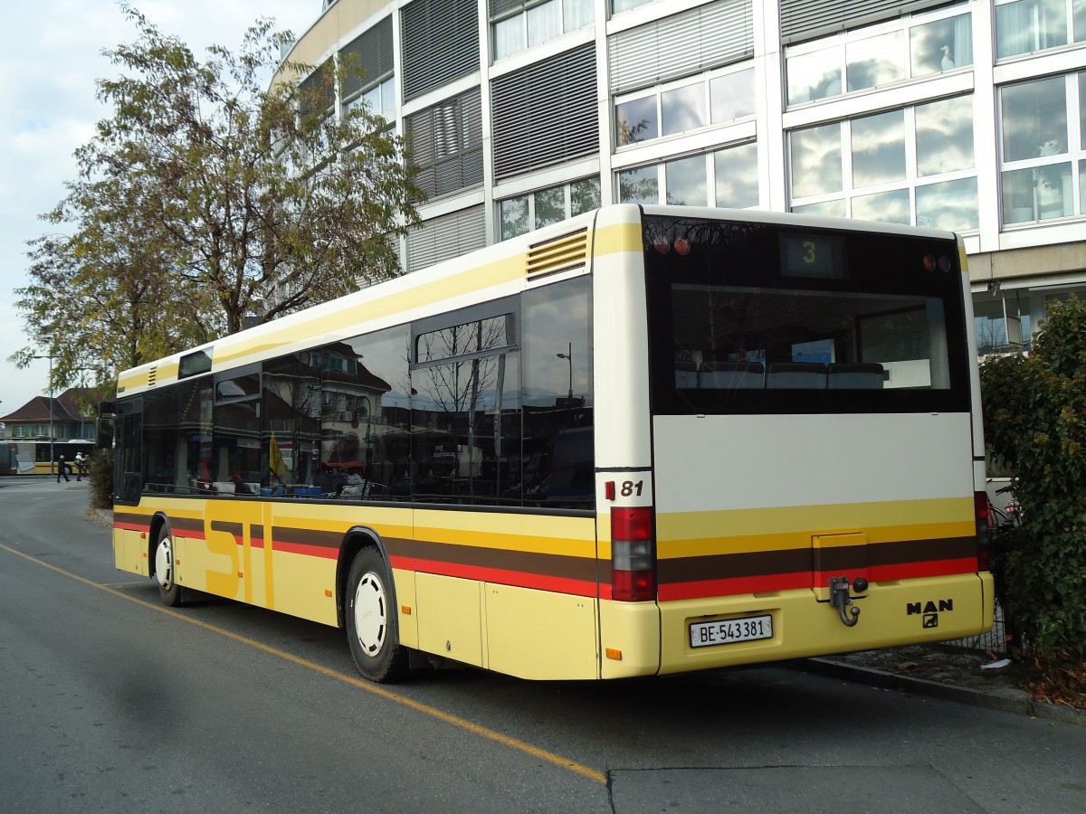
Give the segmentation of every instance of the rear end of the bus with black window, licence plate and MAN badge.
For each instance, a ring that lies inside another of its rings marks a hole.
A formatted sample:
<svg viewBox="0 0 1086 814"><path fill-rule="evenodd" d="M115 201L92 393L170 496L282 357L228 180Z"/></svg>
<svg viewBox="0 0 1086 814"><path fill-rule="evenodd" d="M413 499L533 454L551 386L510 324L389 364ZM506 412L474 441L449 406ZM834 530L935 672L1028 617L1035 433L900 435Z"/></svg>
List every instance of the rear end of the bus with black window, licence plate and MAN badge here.
<svg viewBox="0 0 1086 814"><path fill-rule="evenodd" d="M632 483L651 495L659 651L630 634L643 611L605 601L605 653L614 631L646 662L605 656L605 675L992 625L964 253L809 222L645 217L652 469ZM629 481L608 483L617 507Z"/></svg>

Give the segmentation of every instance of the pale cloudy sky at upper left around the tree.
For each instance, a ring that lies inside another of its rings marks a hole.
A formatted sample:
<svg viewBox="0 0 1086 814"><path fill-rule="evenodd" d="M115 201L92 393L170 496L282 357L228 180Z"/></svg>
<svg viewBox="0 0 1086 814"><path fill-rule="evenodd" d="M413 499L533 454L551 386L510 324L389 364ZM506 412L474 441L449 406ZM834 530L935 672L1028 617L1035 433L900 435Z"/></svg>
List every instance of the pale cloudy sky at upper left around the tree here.
<svg viewBox="0 0 1086 814"><path fill-rule="evenodd" d="M321 0L131 0L151 23L204 49L236 50L245 29L270 17L301 37ZM102 51L136 39L115 0L0 0L0 416L49 393L49 361L16 368L8 360L29 344L14 290L26 285L26 241L55 229L40 219L76 178L73 153L110 111L94 80L115 76ZM91 382L88 382L91 383ZM59 394L58 394L59 395Z"/></svg>

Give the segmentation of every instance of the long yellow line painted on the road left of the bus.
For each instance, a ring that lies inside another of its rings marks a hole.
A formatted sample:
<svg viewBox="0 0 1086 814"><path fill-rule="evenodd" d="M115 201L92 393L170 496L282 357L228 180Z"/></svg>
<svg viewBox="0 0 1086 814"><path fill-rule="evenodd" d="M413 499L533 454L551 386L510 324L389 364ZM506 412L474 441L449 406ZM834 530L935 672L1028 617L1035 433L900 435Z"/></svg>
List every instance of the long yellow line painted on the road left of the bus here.
<svg viewBox="0 0 1086 814"><path fill-rule="evenodd" d="M202 627L203 629L209 631L211 633L217 633L220 636L226 636L227 638L233 639L235 641L241 643L242 645L249 645L250 647L255 647L257 650L263 650L269 656L275 656L279 659L293 662L299 666L303 666L307 670L320 673L321 675L326 675L329 678L334 678L337 681L343 682L344 684L350 684L352 687L364 689L367 692L370 692L375 696L379 696L386 700L393 701L394 703L408 707L417 712L421 712L426 715L430 715L431 717L435 717L439 721L444 721L446 724L452 724L453 726L459 727L460 729L466 729L467 732L473 735L487 738L488 740L492 740L495 743L501 743L502 746L506 746L509 747L510 749L516 749L520 752L525 752L526 754L530 754L531 756L538 758L539 760L546 761L547 763L553 763L556 766L566 768L570 772L573 772L574 774L579 774L582 777L589 778L590 780L595 780L596 783L605 785L607 783L607 776L603 772L597 772L594 768L582 765L576 761L571 761L568 758L563 758L560 754L548 752L546 749L540 749L539 747L532 746L531 743L527 743L523 740L518 740L517 738L510 738L508 735L503 735L502 733L494 732L493 729L489 729L485 726L481 726L479 724L472 723L471 721L463 718L459 715L454 715L451 712L444 712L443 710L439 710L437 707L431 707L430 704L422 703L421 701L415 701L411 698L405 698L404 696L393 692L392 690L382 687L378 684L372 684L370 682L365 681L364 678L359 678L353 675L344 675L343 673L339 673L329 667L321 666L316 662L312 662L308 661L307 659L294 656L293 653L289 653L286 650L280 650L276 647L270 647L268 645L261 644L260 641L256 641L254 639L247 638L245 636L241 636L237 633L231 633L230 631L224 629L222 627L216 627L215 625L207 624L206 622L201 622L199 619L192 619L191 616L187 616L184 613L171 610L169 608L163 607L161 605L154 605L153 602L147 602L134 596L129 596L128 594L117 590L116 588L111 588L106 585L101 585L99 583L91 582L90 580L79 576L78 574L73 574L71 571L65 571L62 568L56 568L56 565L53 565L52 563L46 562L45 560L39 560L36 557L30 557L29 555L23 554L17 549L11 548L10 546L5 546L2 543L0 543L0 549L3 549L4 551L13 554L17 557L22 557L24 560L29 560L36 565L41 565L42 568L47 568L50 571L55 571L58 574L62 574L63 576L66 576L70 580L81 582L84 585L89 585L90 587L97 588L98 590L104 590L106 594L112 594L113 596L118 597L121 599L127 599L129 602L135 602L136 605L142 606L143 608L149 608L153 611L157 611L159 613L165 613L167 616L173 616L174 619L180 620L181 622L188 622L189 624L195 625L197 627Z"/></svg>

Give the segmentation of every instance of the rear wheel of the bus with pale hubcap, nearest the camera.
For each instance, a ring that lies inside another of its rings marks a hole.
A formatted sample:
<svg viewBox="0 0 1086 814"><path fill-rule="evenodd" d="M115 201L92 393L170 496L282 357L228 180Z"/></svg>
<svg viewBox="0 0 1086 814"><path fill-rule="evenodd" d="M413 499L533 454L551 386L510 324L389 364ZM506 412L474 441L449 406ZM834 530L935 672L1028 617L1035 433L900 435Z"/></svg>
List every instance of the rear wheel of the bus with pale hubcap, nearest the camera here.
<svg viewBox="0 0 1086 814"><path fill-rule="evenodd" d="M400 645L392 575L376 548L364 548L346 577L346 638L358 672L371 682L407 675L407 650Z"/></svg>

